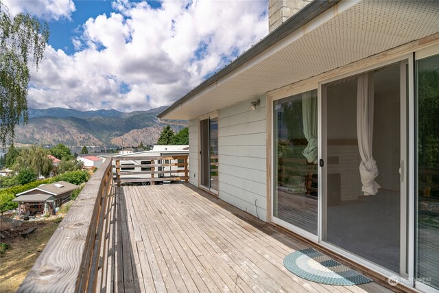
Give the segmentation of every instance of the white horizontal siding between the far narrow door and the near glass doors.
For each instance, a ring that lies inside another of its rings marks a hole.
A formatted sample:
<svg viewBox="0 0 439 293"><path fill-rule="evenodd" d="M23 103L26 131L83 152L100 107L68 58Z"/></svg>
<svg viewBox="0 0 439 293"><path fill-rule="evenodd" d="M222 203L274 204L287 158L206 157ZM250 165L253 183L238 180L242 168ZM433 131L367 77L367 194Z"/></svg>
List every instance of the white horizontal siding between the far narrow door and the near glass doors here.
<svg viewBox="0 0 439 293"><path fill-rule="evenodd" d="M266 98L250 110L255 100L219 110L219 198L266 220Z"/></svg>

